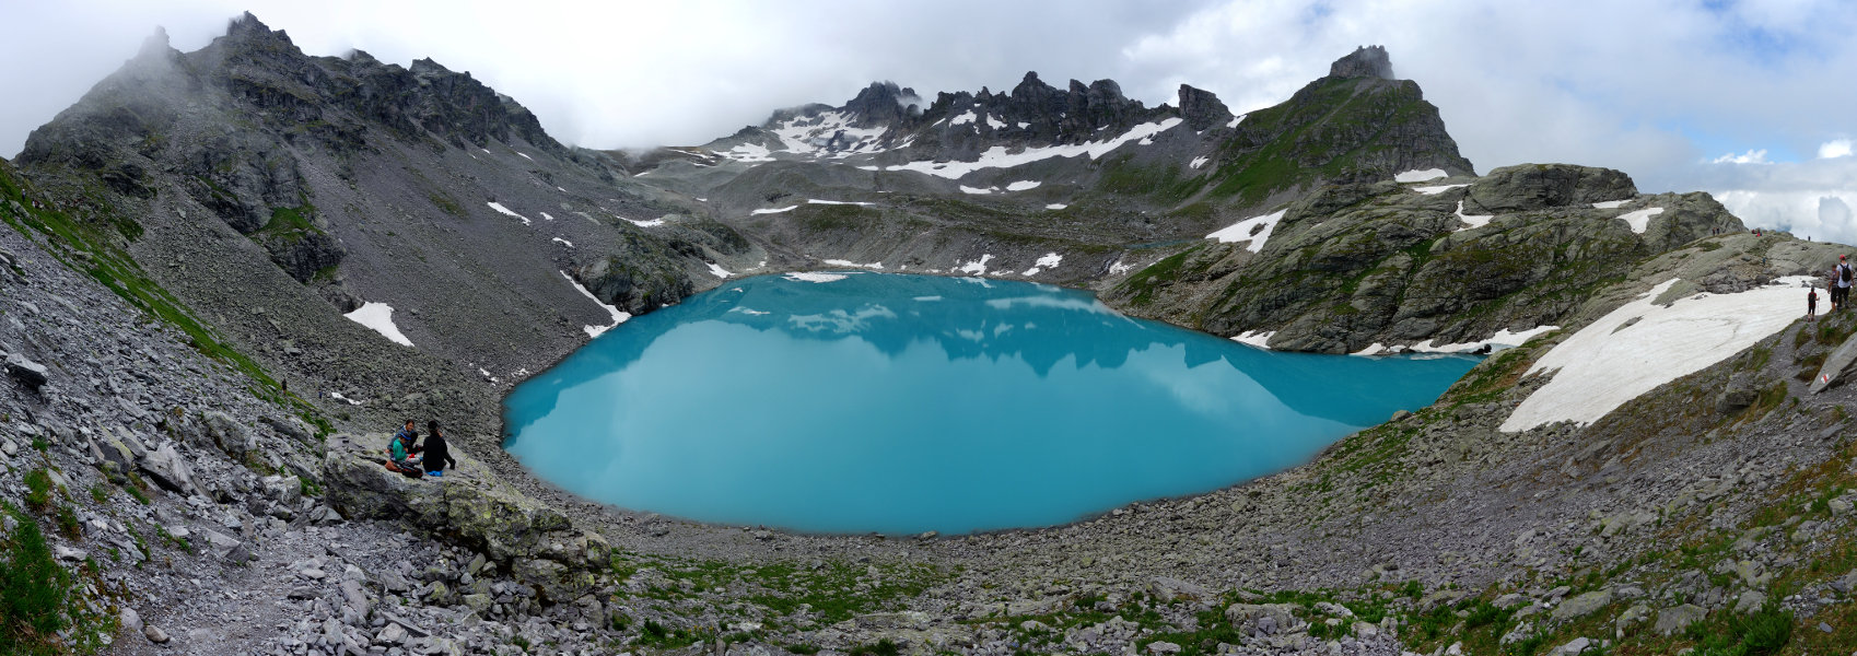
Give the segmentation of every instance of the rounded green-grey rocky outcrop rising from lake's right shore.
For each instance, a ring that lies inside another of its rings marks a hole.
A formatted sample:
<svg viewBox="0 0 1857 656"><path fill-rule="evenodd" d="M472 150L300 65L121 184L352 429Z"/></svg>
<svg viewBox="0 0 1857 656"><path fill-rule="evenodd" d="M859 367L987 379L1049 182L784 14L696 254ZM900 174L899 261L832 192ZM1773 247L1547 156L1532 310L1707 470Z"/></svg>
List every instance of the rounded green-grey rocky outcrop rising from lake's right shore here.
<svg viewBox="0 0 1857 656"><path fill-rule="evenodd" d="M1474 216L1476 193L1504 210ZM1642 227L1621 219L1632 212L1649 214ZM1109 297L1214 335L1276 333L1270 346L1279 349L1463 344L1560 325L1640 260L1740 230L1712 199L1640 197L1629 177L1606 169L1506 167L1441 193L1335 184L1291 203L1257 255L1207 242Z"/></svg>

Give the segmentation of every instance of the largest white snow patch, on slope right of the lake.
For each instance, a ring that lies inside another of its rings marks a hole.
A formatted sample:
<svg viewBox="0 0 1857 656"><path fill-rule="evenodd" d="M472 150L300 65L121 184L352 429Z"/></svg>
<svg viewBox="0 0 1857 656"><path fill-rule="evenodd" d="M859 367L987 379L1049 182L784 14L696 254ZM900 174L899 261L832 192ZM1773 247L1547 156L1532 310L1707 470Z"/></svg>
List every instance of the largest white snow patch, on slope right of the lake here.
<svg viewBox="0 0 1857 656"><path fill-rule="evenodd" d="M1552 422L1591 424L1643 392L1721 362L1779 333L1798 318L1801 284L1783 277L1740 294L1695 294L1668 307L1653 303L1677 279L1556 344L1525 375L1556 372L1499 427L1526 431ZM1630 325L1627 325L1630 323Z"/></svg>

